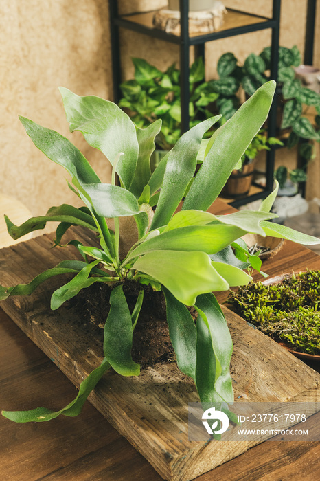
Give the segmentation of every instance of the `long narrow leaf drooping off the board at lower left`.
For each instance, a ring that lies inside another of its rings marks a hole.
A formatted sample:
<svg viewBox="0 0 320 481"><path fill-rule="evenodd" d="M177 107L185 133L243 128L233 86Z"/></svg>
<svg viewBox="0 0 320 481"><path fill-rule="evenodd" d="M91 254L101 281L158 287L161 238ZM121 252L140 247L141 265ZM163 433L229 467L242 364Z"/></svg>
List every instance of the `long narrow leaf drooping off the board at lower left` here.
<svg viewBox="0 0 320 481"><path fill-rule="evenodd" d="M85 401L87 401L87 397L98 384L98 381L100 381L108 368L110 368L110 364L108 361L106 361L106 359L104 359L100 366L95 368L95 370L93 370L91 374L89 374L89 376L82 381L76 399L73 399L71 403L69 403L66 407L63 407L63 409L60 411L52 411L46 407L36 407L36 409L30 411L2 411L2 414L5 416L5 418L8 418L10 421L14 421L15 423L50 421L51 419L58 417L60 414L71 417L78 416Z"/></svg>

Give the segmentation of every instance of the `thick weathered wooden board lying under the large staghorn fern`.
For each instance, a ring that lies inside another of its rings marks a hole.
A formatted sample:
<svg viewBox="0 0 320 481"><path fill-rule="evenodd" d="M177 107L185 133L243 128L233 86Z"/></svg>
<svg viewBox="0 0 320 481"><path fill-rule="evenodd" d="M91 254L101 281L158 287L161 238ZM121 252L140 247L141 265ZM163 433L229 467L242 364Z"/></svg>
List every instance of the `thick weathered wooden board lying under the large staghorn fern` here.
<svg viewBox="0 0 320 481"><path fill-rule="evenodd" d="M84 244L86 234L76 234ZM74 235L73 235L74 237ZM67 257L67 249L51 249L50 236L0 251L0 278L5 285L29 282L44 269ZM76 257L73 247L68 249ZM100 363L102 346L90 333L75 327L71 309L48 309L49 297L61 279L54 279L32 296L1 303L23 331L79 385ZM223 308L233 337L232 377L236 399L250 401L320 401L320 375L286 353L281 346ZM240 397L241 396L241 397ZM90 401L167 480L191 480L247 451L251 444L190 443L187 403L198 401L192 381L175 363L145 369L140 377L108 372ZM54 409L61 407L47 406ZM36 399L34 401L36 407Z"/></svg>

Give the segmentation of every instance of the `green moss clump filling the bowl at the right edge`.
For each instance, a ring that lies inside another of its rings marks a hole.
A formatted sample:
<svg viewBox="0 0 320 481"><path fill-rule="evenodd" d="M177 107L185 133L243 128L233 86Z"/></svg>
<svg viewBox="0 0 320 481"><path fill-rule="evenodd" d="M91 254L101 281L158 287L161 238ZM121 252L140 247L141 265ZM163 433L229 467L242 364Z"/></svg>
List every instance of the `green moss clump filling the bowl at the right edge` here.
<svg viewBox="0 0 320 481"><path fill-rule="evenodd" d="M301 353L320 355L320 271L293 274L279 284L250 282L231 292L231 304L245 320Z"/></svg>

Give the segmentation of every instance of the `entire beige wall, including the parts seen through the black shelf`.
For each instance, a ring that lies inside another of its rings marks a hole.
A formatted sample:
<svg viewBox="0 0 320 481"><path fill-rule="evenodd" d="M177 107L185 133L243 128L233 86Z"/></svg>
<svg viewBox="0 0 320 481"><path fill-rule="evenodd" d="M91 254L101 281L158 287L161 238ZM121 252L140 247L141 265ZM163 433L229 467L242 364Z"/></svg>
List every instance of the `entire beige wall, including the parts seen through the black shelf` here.
<svg viewBox="0 0 320 481"><path fill-rule="evenodd" d="M160 8L165 0L119 0L122 13ZM271 0L226 0L227 6L269 14ZM306 0L282 1L281 44L303 49ZM320 65L320 7L317 12L315 63ZM243 60L270 43L270 32L258 32L207 44L207 77L227 51ZM176 61L176 45L121 31L122 71L133 75L130 56L141 56L163 69ZM51 205L75 203L65 171L33 146L19 123L25 115L66 135L82 150L103 179L110 169L101 153L89 148L80 133L69 134L58 86L79 95L112 100L111 49L106 0L1 0L0 16L0 192L16 197L43 214Z"/></svg>

